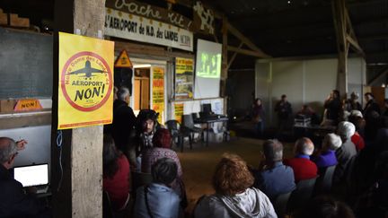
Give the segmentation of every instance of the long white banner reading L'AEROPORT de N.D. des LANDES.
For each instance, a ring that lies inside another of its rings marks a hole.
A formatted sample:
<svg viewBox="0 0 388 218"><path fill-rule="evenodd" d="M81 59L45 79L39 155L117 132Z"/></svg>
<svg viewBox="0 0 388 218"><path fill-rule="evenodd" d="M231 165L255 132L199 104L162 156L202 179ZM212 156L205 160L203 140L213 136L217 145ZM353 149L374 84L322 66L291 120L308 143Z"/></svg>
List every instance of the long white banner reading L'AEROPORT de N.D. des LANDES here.
<svg viewBox="0 0 388 218"><path fill-rule="evenodd" d="M193 50L192 32L111 8L106 8L105 35Z"/></svg>

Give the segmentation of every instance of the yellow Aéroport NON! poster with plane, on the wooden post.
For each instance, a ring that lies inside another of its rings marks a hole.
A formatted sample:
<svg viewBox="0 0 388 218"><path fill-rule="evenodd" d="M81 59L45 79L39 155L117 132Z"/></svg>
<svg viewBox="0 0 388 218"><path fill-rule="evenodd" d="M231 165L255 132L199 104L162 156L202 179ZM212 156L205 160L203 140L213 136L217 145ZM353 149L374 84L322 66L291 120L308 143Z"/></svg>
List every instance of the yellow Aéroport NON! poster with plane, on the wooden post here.
<svg viewBox="0 0 388 218"><path fill-rule="evenodd" d="M114 43L59 32L58 129L110 124Z"/></svg>

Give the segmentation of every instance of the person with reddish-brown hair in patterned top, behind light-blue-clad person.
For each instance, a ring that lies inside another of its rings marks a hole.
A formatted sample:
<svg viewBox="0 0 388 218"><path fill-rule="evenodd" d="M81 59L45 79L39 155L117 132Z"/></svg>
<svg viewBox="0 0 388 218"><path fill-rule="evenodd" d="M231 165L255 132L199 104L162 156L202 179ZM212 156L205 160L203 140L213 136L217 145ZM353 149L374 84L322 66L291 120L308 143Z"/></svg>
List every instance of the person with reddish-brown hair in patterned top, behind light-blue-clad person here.
<svg viewBox="0 0 388 218"><path fill-rule="evenodd" d="M172 182L172 189L178 194L178 196L185 197L185 190L183 186L183 172L181 169L181 162L178 158L177 153L171 149L172 137L168 129L160 128L156 130L153 137L154 147L146 149L142 154L142 172L150 173L151 166L157 160L161 158L170 158L175 161L178 167L178 176Z"/></svg>

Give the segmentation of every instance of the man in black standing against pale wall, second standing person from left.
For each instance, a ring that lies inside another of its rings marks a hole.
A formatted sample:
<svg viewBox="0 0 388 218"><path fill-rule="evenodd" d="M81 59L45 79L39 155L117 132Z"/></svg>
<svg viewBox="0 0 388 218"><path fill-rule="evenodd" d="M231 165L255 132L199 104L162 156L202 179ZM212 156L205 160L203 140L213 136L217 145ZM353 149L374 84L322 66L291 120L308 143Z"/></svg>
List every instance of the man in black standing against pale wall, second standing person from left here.
<svg viewBox="0 0 388 218"><path fill-rule="evenodd" d="M275 106L275 112L278 113L278 135L287 129L292 115L291 104L287 101L287 95L283 94L281 100Z"/></svg>

